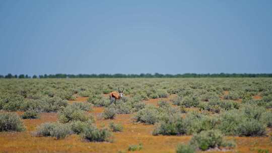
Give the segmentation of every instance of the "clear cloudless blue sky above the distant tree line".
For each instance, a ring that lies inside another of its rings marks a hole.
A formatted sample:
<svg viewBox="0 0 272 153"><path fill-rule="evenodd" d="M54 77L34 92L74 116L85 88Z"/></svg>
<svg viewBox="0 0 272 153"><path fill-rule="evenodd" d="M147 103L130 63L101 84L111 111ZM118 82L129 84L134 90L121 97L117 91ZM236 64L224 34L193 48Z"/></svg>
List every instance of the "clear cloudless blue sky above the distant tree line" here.
<svg viewBox="0 0 272 153"><path fill-rule="evenodd" d="M271 73L272 1L0 1L0 74Z"/></svg>

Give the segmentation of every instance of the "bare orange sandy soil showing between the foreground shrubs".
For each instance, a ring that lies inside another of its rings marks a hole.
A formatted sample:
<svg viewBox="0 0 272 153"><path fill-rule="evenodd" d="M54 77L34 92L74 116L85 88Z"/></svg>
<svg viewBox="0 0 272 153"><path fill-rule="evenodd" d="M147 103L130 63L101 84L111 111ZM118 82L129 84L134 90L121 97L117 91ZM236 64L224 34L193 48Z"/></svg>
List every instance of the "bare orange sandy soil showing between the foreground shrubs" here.
<svg viewBox="0 0 272 153"><path fill-rule="evenodd" d="M175 95L174 95L175 96ZM77 98L76 101L85 102L87 98ZM164 99L169 100L169 98ZM157 105L158 99L151 99L146 103ZM104 108L94 107L93 113L96 117L98 127L108 125L109 122L121 123L123 132L114 133L113 142L87 142L80 135L70 135L64 139L55 140L53 137L34 137L31 132L44 122L57 121L56 113L41 113L39 119L24 119L26 126L24 132L1 132L0 152L127 152L131 144L143 143L143 149L134 152L175 152L179 143L186 143L191 136L153 136L151 133L154 125L133 123L133 114L119 114L113 120L104 120L101 113ZM22 114L23 112L17 112ZM268 149L272 152L272 142L269 137L227 137L235 139L237 147L225 152L258 152L258 149ZM220 152L220 151L209 151Z"/></svg>

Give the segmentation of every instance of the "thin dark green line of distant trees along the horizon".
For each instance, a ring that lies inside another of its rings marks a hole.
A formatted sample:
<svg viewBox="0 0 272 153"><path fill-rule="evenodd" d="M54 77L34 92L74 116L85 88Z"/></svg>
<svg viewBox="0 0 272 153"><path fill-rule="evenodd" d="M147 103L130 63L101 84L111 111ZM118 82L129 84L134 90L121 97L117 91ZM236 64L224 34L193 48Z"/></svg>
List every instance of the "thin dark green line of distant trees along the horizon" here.
<svg viewBox="0 0 272 153"><path fill-rule="evenodd" d="M141 73L141 74L44 74L44 75L30 75L20 74L12 75L11 73L7 75L0 75L0 78L5 79L29 79L29 78L257 78L257 77L272 77L272 73L207 73L207 74L197 74L197 73L184 73L184 74L160 74L160 73Z"/></svg>

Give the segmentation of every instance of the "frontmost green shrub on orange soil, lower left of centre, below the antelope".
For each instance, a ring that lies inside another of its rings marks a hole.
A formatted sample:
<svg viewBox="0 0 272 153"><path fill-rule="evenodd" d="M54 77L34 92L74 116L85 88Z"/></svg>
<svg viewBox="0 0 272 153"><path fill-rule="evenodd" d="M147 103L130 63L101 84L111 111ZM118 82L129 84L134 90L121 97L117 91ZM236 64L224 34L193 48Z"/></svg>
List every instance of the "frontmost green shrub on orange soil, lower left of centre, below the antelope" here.
<svg viewBox="0 0 272 153"><path fill-rule="evenodd" d="M98 129L93 125L85 128L82 136L89 141L111 141L112 133L106 128Z"/></svg>

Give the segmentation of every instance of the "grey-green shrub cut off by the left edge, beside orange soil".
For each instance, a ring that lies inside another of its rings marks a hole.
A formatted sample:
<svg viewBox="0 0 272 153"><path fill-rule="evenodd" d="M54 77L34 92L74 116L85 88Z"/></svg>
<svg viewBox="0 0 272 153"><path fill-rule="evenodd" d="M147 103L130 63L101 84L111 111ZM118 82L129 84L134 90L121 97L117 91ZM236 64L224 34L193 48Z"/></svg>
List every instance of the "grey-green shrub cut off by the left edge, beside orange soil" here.
<svg viewBox="0 0 272 153"><path fill-rule="evenodd" d="M23 131L25 127L16 113L0 112L0 132L2 131Z"/></svg>

